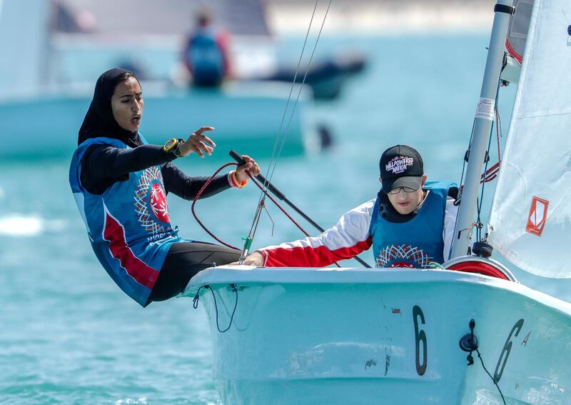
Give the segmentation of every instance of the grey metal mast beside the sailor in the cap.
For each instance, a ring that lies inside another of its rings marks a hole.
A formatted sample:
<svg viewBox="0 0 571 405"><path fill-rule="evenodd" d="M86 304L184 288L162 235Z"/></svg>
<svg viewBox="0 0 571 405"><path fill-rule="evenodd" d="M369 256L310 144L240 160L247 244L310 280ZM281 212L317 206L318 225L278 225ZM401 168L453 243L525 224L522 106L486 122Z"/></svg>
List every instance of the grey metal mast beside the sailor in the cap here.
<svg viewBox="0 0 571 405"><path fill-rule="evenodd" d="M487 138L495 119L495 98L497 95L497 83L500 80L502 69L505 39L510 24L510 16L515 11L512 4L512 0L498 0L494 6L494 24L487 52L480 102L477 104L475 114L472 143L468 151L468 168L466 169L464 191L454 229L450 259L468 254L477 194L480 189L480 176L482 175L485 161Z"/></svg>

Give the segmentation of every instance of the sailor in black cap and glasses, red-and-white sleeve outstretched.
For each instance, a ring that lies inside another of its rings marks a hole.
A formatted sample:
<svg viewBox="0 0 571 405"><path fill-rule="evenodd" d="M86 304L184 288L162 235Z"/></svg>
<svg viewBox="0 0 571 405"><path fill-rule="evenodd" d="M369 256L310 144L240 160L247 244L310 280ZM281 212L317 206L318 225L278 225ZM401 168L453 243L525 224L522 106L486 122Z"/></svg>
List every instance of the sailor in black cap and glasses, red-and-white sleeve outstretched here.
<svg viewBox="0 0 571 405"><path fill-rule="evenodd" d="M251 266L329 266L373 247L377 267L426 268L450 255L458 186L427 182L416 149L392 146L380 156L375 199L344 214L322 234L268 246L244 260Z"/></svg>

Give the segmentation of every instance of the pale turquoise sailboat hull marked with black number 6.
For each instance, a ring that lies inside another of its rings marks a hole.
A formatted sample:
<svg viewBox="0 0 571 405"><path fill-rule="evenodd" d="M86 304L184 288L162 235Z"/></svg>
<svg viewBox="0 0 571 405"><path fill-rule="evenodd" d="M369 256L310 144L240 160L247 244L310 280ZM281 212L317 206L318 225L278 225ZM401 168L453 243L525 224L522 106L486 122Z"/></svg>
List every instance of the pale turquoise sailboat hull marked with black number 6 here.
<svg viewBox="0 0 571 405"><path fill-rule="evenodd" d="M476 352L468 366L460 349L471 319L510 403L571 401L571 305L511 281L223 267L198 274L185 294L205 285L225 404L502 404Z"/></svg>

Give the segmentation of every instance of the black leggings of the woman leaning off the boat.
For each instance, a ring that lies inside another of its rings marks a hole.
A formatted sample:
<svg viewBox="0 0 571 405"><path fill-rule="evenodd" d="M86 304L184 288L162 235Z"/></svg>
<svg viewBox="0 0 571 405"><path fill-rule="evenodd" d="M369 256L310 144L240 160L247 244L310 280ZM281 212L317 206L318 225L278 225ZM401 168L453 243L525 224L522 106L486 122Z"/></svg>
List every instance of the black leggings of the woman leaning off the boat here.
<svg viewBox="0 0 571 405"><path fill-rule="evenodd" d="M150 301L164 301L180 294L188 281L213 264L221 266L240 259L241 251L206 242L173 244L158 274Z"/></svg>

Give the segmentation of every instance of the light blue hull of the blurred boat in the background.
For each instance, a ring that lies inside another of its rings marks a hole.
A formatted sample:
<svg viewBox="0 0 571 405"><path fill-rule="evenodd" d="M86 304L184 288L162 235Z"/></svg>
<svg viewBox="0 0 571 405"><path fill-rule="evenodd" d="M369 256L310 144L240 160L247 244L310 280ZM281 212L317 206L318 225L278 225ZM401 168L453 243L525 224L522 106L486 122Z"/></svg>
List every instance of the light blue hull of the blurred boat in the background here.
<svg viewBox="0 0 571 405"><path fill-rule="evenodd" d="M189 91L148 91L141 134L152 144L181 138L200 126L214 126L212 138L221 151L240 145L241 151L256 156L270 156L283 115L290 86L226 86L224 89L191 89ZM152 86L151 86L152 87ZM286 88L287 87L287 88ZM26 99L0 101L0 139L19 139L29 147L0 149L2 159L56 158L71 156L77 132L91 102L91 94L44 95ZM288 130L283 156L302 154L319 148L318 127L312 125L311 101L307 92L298 101ZM220 154L227 159L226 154Z"/></svg>

